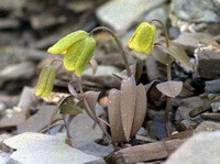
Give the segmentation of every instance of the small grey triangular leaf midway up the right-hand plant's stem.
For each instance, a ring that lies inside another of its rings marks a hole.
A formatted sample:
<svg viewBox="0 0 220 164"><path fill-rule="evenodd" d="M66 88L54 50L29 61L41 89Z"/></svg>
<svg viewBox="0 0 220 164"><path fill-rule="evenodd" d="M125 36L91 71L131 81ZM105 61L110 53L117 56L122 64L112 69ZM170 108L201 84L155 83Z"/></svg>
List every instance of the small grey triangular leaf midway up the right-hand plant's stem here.
<svg viewBox="0 0 220 164"><path fill-rule="evenodd" d="M183 88L182 81L165 81L156 85L156 88L164 95L175 98L178 96Z"/></svg>

